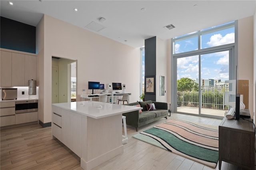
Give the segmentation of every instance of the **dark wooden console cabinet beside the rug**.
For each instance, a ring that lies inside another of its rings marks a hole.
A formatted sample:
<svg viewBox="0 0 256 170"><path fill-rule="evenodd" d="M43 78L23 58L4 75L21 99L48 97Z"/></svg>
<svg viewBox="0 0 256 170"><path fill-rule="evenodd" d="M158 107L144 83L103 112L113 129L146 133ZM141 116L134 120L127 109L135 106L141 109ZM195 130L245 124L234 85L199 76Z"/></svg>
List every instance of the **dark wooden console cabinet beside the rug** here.
<svg viewBox="0 0 256 170"><path fill-rule="evenodd" d="M226 119L219 125L219 169L221 162L254 170L254 125L252 119Z"/></svg>

